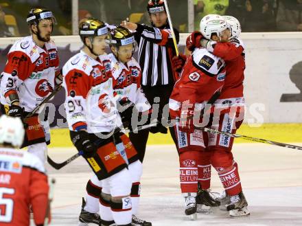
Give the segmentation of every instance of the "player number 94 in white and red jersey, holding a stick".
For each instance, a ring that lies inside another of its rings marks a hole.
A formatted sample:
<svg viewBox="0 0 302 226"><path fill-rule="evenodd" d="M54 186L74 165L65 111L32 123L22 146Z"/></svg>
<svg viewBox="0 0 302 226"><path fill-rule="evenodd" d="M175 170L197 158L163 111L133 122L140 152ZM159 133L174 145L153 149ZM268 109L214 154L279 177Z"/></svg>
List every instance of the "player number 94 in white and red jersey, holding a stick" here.
<svg viewBox="0 0 302 226"><path fill-rule="evenodd" d="M113 92L113 77L105 52L106 25L97 19L80 21L84 49L64 65L65 109L71 139L95 173L100 194L100 225L126 225L132 222L130 192L132 179L128 159L137 152L124 133L117 111L122 100ZM126 146L126 148L124 148ZM125 150L126 149L126 150ZM100 183L99 183L100 182ZM112 216L111 220L102 216Z"/></svg>

